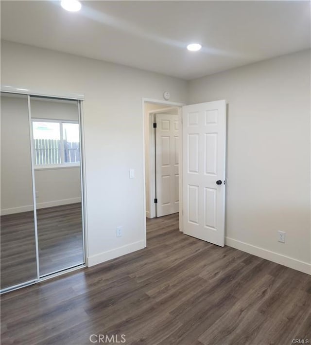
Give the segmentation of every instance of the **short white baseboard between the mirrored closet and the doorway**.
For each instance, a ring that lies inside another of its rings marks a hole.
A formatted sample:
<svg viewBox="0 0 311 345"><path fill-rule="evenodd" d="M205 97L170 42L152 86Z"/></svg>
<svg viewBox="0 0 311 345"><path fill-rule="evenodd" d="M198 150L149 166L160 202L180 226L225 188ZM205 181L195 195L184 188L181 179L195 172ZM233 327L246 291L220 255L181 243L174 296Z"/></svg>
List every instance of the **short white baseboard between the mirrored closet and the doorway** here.
<svg viewBox="0 0 311 345"><path fill-rule="evenodd" d="M127 244L125 246L112 249L107 252L103 252L100 254L96 254L93 256L89 256L86 258L86 265L87 267L91 267L97 264L100 264L102 262L114 259L116 257L119 257L121 255L129 254L135 251L138 251L139 249L145 248L144 240L133 242L130 244Z"/></svg>

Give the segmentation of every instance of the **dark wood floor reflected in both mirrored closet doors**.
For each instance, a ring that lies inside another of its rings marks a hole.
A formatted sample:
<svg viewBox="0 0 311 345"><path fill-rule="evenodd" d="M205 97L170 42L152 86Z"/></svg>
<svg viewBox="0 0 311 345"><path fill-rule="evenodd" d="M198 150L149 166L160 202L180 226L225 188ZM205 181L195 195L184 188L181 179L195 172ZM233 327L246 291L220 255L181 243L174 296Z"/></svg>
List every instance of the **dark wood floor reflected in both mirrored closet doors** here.
<svg viewBox="0 0 311 345"><path fill-rule="evenodd" d="M37 210L40 275L83 263L81 203ZM1 216L1 289L36 278L34 212Z"/></svg>

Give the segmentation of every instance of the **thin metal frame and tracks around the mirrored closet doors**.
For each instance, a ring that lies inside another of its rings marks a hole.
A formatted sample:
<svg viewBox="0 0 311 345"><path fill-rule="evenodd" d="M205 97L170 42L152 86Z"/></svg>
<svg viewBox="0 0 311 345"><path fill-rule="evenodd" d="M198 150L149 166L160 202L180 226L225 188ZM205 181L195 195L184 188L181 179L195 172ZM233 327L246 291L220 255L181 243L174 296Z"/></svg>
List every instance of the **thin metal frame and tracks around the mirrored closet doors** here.
<svg viewBox="0 0 311 345"><path fill-rule="evenodd" d="M26 92L27 91L27 92ZM84 146L84 125L83 125L83 94L77 93L66 93L66 94L46 94L41 92L32 92L28 89L16 88L11 86L1 86L0 92L12 93L12 94L23 94L27 96L28 102L28 123L29 123L29 134L30 134L30 150L31 150L31 174L32 174L32 187L33 187L33 204L34 204L34 224L35 224L35 254L36 254L36 279L26 281L14 286L7 287L0 291L0 294L14 291L29 285L36 284L38 282L54 278L58 275L79 270L86 267L87 257L87 221L86 221L86 168L85 168L85 146ZM54 272L48 275L40 277L39 272L39 246L38 246L38 229L37 229L37 217L36 217L36 198L35 198L35 160L34 160L34 145L33 145L33 128L32 128L32 117L31 117L31 104L30 99L32 96L39 96L48 99L66 99L70 101L77 101L78 104L78 118L79 118L79 129L80 129L80 176L81 176L81 212L82 212L82 250L83 250L83 263L69 267L58 272Z"/></svg>

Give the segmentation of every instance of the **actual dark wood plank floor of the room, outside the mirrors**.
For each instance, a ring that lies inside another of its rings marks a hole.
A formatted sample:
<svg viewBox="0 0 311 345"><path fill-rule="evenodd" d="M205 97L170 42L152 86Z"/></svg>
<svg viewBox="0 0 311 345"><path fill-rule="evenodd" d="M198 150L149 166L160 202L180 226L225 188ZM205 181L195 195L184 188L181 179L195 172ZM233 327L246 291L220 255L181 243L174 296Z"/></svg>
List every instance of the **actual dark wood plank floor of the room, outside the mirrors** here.
<svg viewBox="0 0 311 345"><path fill-rule="evenodd" d="M2 295L1 344L311 341L310 275L183 235L176 215L147 224L146 249Z"/></svg>

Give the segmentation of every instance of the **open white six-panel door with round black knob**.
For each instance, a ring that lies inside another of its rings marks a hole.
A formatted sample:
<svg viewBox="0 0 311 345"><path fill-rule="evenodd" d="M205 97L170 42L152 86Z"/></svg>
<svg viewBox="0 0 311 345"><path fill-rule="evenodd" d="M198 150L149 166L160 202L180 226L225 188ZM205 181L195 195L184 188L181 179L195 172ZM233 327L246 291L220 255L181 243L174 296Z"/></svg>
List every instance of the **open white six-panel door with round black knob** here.
<svg viewBox="0 0 311 345"><path fill-rule="evenodd" d="M225 245L225 100L183 107L184 234Z"/></svg>

